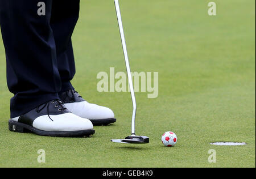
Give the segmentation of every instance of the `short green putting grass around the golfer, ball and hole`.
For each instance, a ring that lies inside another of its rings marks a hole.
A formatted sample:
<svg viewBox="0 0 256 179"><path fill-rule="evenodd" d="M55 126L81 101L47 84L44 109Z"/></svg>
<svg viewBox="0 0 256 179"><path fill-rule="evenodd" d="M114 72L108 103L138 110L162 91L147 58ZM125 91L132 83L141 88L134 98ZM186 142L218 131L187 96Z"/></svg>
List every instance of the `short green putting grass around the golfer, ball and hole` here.
<svg viewBox="0 0 256 179"><path fill-rule="evenodd" d="M210 1L209 1L210 2ZM100 71L125 71L113 1L81 1L73 34L73 86L88 101L109 106L117 123L95 127L92 138L49 138L7 129L12 94L0 42L0 167L255 167L255 1L122 0L132 71L159 72L159 96L136 93L138 134L150 144L111 143L130 134L128 92L99 93ZM178 143L163 147L174 131ZM210 142L246 142L211 146ZM46 163L37 151L46 151ZM208 163L208 150L217 163Z"/></svg>

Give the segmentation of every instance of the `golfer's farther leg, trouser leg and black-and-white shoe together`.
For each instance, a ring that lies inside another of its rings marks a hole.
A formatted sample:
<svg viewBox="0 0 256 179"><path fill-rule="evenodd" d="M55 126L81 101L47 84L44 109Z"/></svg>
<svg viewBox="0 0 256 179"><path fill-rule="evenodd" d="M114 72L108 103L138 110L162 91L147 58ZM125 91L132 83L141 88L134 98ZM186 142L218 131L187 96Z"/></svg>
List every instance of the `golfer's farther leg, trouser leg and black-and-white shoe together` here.
<svg viewBox="0 0 256 179"><path fill-rule="evenodd" d="M94 125L107 125L116 121L112 110L88 103L70 83L75 75L71 36L79 18L79 6L79 0L55 0L52 5L51 27L55 37L57 62L62 81L59 96L72 113L88 118Z"/></svg>

